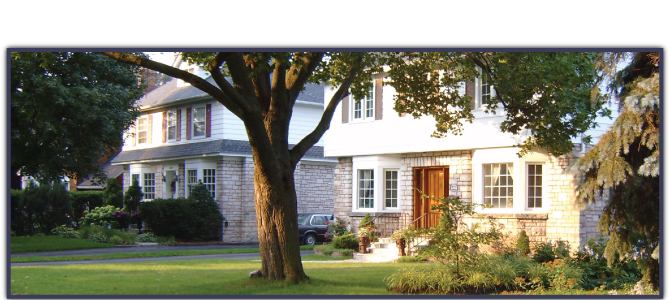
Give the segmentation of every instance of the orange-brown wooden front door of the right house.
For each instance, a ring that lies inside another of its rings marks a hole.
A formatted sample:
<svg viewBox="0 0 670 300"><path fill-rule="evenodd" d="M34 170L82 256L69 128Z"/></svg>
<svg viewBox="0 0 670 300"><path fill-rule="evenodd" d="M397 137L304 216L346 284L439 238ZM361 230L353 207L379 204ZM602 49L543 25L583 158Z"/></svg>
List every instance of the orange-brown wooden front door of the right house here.
<svg viewBox="0 0 670 300"><path fill-rule="evenodd" d="M414 219L417 228L437 226L440 212L431 207L439 203L438 199L449 196L449 168L414 168ZM430 196L422 198L421 192Z"/></svg>

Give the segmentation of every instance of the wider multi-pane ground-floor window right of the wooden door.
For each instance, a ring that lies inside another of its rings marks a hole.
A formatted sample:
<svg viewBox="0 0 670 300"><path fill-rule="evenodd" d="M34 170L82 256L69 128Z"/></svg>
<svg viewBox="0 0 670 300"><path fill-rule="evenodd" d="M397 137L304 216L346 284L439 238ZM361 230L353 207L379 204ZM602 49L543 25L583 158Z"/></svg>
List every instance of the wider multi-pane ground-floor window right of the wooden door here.
<svg viewBox="0 0 670 300"><path fill-rule="evenodd" d="M484 204L493 208L512 208L514 202L511 163L484 164Z"/></svg>

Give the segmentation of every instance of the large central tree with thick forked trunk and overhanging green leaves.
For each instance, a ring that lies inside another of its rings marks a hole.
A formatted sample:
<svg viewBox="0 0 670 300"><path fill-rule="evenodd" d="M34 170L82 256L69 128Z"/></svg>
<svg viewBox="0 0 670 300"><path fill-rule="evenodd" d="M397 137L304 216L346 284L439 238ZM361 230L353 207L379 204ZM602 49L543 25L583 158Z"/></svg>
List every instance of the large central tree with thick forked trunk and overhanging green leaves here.
<svg viewBox="0 0 670 300"><path fill-rule="evenodd" d="M296 164L328 129L343 98L351 93L354 99L362 99L370 93L373 74L388 73L385 84L398 91L398 113L435 117L436 136L459 134L462 120L472 122L472 99L458 89L484 76L498 91L487 104L495 109L500 103L508 112L502 130L532 131L520 145L524 151L532 147L555 155L570 151L570 138L592 126L600 107L593 93L594 53L182 53L188 62L204 66L215 84L136 55L103 54L180 78L242 120L255 165L262 275L294 282L308 279L299 252ZM336 91L327 99L316 128L289 148L293 106L308 82L329 82Z"/></svg>

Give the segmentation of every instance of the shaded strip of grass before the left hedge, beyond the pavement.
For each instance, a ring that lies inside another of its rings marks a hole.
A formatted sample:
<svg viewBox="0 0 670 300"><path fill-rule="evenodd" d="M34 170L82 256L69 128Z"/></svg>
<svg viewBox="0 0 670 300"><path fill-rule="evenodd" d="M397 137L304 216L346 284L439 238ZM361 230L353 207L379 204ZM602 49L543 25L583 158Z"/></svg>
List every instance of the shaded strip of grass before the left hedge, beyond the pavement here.
<svg viewBox="0 0 670 300"><path fill-rule="evenodd" d="M112 248L113 244L91 242L85 239L66 239L59 236L13 236L11 253L62 251L75 249Z"/></svg>

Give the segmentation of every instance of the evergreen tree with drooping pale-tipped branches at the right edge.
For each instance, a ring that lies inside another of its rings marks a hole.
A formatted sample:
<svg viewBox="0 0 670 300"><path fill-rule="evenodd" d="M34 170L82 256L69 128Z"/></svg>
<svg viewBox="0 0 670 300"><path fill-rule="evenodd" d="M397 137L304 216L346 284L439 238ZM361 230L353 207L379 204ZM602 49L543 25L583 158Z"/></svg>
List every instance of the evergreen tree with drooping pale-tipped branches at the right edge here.
<svg viewBox="0 0 670 300"><path fill-rule="evenodd" d="M616 74L621 114L598 144L572 171L582 174L578 201L591 203L609 192L598 229L610 239L608 263L637 260L655 289L659 261L651 254L659 241L659 66L658 53L635 53Z"/></svg>

